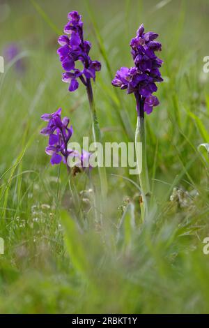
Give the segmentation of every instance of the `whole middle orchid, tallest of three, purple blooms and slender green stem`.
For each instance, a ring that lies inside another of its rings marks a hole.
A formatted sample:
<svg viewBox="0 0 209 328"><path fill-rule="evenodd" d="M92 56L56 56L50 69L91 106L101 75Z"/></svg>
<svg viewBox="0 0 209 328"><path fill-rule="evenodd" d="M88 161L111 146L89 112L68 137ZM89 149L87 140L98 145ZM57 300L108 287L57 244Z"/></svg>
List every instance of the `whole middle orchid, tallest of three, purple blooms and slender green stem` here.
<svg viewBox="0 0 209 328"><path fill-rule="evenodd" d="M98 123L93 88L91 81L95 81L96 72L101 70L100 61L93 61L89 56L91 43L84 40L82 16L77 11L68 14L68 24L64 27L64 33L59 36L58 42L61 45L57 50L64 70L62 80L68 83L70 92L79 88L79 82L86 87L88 103L91 111L92 129L94 142L102 142L102 135ZM77 62L82 64L82 68L77 67ZM84 160L84 152L80 155L81 162ZM84 166L84 165L83 165ZM105 167L98 167L100 175L101 194L107 197L107 174Z"/></svg>

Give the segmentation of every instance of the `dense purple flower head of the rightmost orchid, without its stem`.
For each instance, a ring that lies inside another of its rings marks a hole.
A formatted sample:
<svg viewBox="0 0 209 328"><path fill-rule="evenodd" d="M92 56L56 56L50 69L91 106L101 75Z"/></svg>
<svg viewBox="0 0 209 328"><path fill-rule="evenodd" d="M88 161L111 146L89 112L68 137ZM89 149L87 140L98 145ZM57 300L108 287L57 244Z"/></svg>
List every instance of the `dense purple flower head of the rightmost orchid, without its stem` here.
<svg viewBox="0 0 209 328"><path fill-rule="evenodd" d="M155 51L161 50L161 43L155 41L158 34L154 32L144 33L144 25L141 24L137 31L137 36L132 38L130 46L134 60L134 67L121 67L117 71L112 84L114 87L127 89L127 94L134 93L137 99L137 112L140 116L140 108L147 114L153 111L153 106L157 106L157 97L152 96L157 91L156 82L162 82L159 68L162 60L155 55Z"/></svg>

